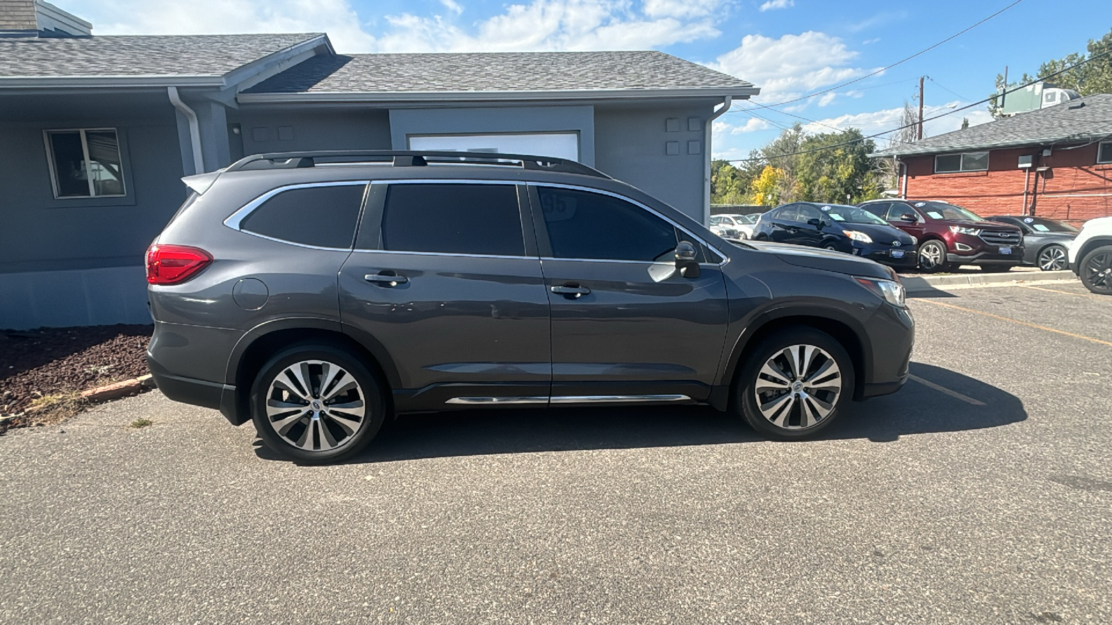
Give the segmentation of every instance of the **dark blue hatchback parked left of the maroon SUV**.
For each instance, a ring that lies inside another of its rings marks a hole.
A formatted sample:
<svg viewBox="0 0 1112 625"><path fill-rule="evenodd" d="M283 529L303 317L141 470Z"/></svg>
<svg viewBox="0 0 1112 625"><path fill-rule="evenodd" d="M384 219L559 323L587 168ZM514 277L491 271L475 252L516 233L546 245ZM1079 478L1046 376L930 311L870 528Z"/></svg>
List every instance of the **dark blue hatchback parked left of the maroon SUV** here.
<svg viewBox="0 0 1112 625"><path fill-rule="evenodd" d="M915 266L915 237L855 206L786 204L757 219L753 238L842 251L896 267Z"/></svg>

